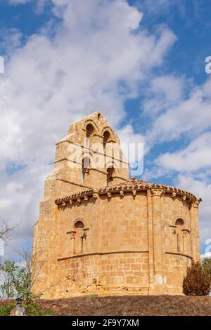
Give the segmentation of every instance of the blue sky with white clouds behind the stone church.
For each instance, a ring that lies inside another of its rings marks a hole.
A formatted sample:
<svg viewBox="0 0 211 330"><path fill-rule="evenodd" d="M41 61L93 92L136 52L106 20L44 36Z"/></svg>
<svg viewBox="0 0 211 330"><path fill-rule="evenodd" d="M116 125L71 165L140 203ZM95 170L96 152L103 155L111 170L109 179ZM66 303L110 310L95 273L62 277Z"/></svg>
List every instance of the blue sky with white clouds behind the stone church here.
<svg viewBox="0 0 211 330"><path fill-rule="evenodd" d="M0 218L18 223L7 258L32 243L56 141L96 110L122 142L144 143L139 178L202 197L205 253L210 12L210 0L0 0Z"/></svg>

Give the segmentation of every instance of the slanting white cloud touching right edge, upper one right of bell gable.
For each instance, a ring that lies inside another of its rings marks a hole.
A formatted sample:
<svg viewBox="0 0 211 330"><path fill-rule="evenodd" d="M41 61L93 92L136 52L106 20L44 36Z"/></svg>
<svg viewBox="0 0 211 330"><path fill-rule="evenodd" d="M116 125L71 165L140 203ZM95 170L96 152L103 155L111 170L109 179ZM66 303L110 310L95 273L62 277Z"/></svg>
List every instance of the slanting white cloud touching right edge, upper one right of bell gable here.
<svg viewBox="0 0 211 330"><path fill-rule="evenodd" d="M192 88L189 97L179 100L176 106L167 107L165 112L156 117L148 140L151 142L177 140L183 134L188 138L194 138L210 128L210 91L211 79L207 79L202 86Z"/></svg>

